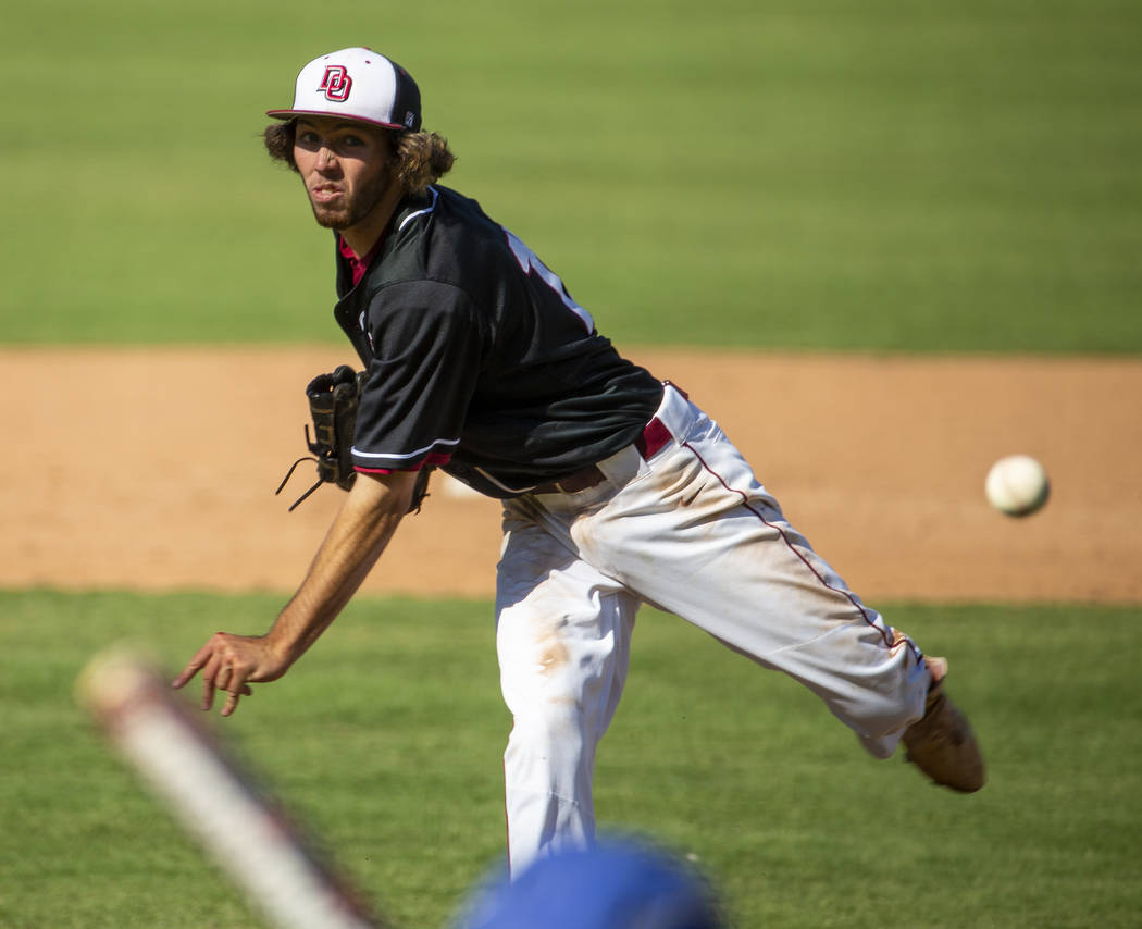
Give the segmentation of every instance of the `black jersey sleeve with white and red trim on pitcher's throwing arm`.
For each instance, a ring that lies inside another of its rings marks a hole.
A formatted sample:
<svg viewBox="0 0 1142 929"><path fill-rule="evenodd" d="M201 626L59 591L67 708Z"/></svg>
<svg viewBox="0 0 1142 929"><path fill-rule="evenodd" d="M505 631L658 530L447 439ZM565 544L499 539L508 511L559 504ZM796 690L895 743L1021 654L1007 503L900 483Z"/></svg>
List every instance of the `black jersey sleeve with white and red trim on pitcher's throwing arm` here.
<svg viewBox="0 0 1142 929"><path fill-rule="evenodd" d="M393 283L370 302L373 359L361 394L353 466L365 473L443 465L460 442L486 327L460 289Z"/></svg>

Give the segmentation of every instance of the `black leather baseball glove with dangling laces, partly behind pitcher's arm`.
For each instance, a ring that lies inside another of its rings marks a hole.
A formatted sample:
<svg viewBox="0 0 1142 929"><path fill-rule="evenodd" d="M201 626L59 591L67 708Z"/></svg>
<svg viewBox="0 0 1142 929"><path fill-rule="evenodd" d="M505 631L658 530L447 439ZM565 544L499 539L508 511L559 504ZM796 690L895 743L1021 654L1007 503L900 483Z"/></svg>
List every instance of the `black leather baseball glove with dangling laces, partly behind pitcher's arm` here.
<svg viewBox="0 0 1142 929"><path fill-rule="evenodd" d="M356 481L352 455L353 433L356 430L356 414L364 379L364 371L354 373L348 365L341 365L331 374L317 375L306 386L305 395L309 400L309 415L313 417L313 438L309 438L309 426L306 424L305 443L311 455L293 462L274 494L282 492L293 468L301 462L317 463L317 482L293 502L291 513L323 483L336 483L343 490L348 490ZM429 467L423 467L417 472L409 513L419 512L420 504L428 496L431 471Z"/></svg>

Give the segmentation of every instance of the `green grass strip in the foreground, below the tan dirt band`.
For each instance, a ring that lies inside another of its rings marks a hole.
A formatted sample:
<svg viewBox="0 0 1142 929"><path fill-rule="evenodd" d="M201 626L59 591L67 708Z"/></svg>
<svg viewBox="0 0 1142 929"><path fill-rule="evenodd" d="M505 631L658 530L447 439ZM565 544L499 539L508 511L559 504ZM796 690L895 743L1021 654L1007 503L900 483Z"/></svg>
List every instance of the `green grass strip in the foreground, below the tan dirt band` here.
<svg viewBox="0 0 1142 929"><path fill-rule="evenodd" d="M171 668L278 598L0 594L0 924L260 924L72 700L96 649ZM645 611L603 743L612 830L698 856L735 924L1137 926L1137 616L1097 608L886 610L952 658L991 780L959 796L877 762L807 692ZM903 617L907 617L904 619ZM361 600L218 728L402 926L444 927L499 862L490 608ZM190 699L190 697L188 697Z"/></svg>

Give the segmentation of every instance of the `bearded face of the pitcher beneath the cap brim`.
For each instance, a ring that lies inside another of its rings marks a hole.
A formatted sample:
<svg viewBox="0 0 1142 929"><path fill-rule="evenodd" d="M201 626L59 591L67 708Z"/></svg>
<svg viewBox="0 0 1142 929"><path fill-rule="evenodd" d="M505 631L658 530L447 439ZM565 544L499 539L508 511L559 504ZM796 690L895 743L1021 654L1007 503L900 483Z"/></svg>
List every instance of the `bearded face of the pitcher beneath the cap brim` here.
<svg viewBox="0 0 1142 929"><path fill-rule="evenodd" d="M297 121L293 161L314 218L339 232L369 218L389 186L384 130L337 117Z"/></svg>

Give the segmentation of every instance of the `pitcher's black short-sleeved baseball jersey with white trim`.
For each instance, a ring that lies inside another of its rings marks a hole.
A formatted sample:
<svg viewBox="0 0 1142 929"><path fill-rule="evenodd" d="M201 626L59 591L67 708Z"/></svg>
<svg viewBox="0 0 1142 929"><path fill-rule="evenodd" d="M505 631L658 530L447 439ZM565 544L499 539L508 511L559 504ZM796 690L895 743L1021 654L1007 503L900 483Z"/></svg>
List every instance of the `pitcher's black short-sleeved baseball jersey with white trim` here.
<svg viewBox="0 0 1142 929"><path fill-rule="evenodd" d="M335 317L369 374L357 471L435 465L513 497L613 455L658 408L662 385L456 191L404 201L359 283L337 262Z"/></svg>

